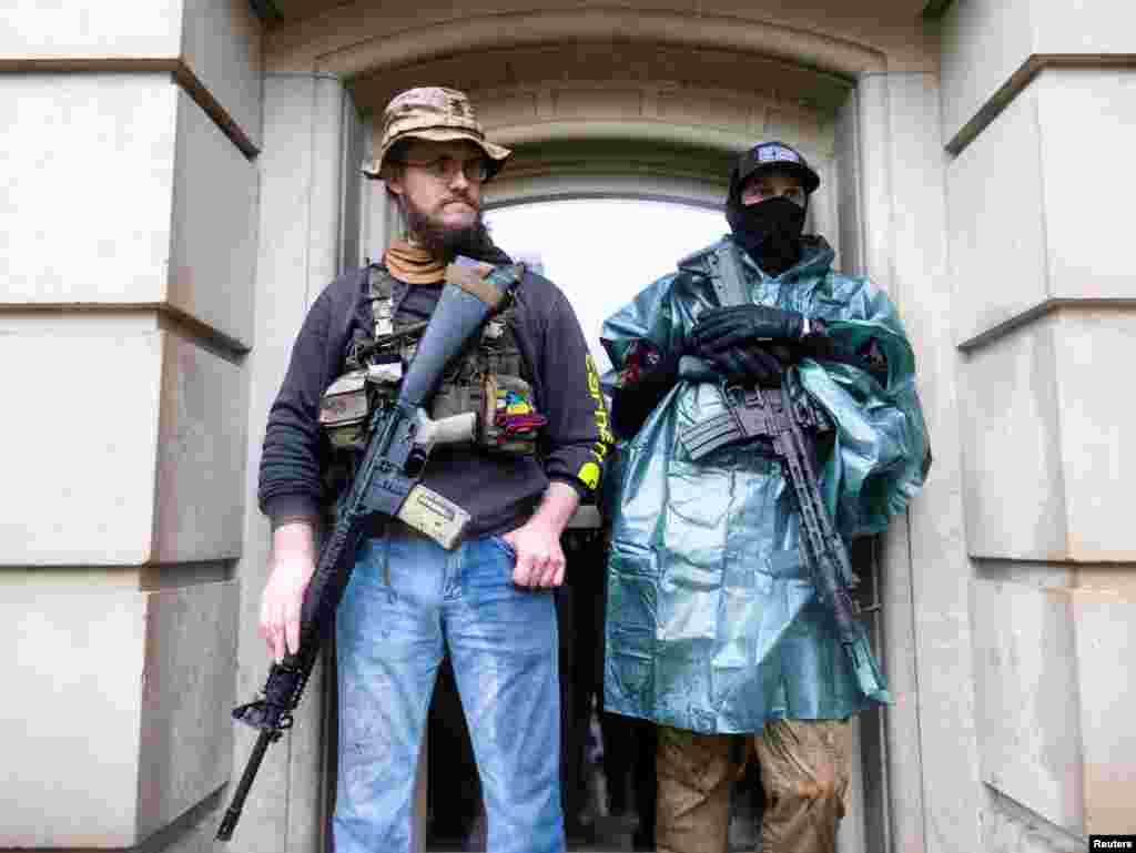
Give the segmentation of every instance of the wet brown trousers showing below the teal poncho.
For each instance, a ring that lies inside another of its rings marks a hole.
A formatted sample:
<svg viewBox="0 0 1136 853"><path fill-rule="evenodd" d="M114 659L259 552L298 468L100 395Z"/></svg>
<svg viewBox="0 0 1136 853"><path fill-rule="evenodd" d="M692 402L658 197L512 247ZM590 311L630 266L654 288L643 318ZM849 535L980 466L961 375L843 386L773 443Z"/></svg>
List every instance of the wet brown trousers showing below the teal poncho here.
<svg viewBox="0 0 1136 853"><path fill-rule="evenodd" d="M700 735L659 727L659 853L725 853L729 788L744 763L732 749L745 737L761 766L766 811L762 853L836 853L844 817L851 726L847 720L770 720L753 735Z"/></svg>

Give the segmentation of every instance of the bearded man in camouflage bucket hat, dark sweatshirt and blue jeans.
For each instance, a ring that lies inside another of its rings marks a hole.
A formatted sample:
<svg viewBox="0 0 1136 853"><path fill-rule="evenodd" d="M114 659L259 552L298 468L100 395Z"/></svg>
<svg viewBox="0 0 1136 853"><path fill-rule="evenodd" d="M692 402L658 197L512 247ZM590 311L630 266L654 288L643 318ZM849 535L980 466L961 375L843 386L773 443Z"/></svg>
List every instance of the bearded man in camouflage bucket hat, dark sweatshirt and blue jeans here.
<svg viewBox="0 0 1136 853"><path fill-rule="evenodd" d="M421 476L470 515L463 541L446 551L375 518L356 554L336 618L339 853L410 848L419 747L445 653L469 724L488 850L563 850L552 587L563 577L561 530L599 483L609 434L567 299L541 276L506 269L509 258L482 223L483 186L509 154L485 139L461 92L414 89L390 102L378 158L365 172L396 199L406 237L316 300L268 419L259 499L273 550L260 633L279 660L299 642L317 518L332 496L323 475L333 455L352 453L321 429L334 420L325 417L334 407L321 408L325 391L344 373L370 382L370 369L389 368L367 354L378 338L398 341L395 361L409 362L458 256L523 275L511 302L446 366L431 402L434 418L476 413L473 442L436 445Z"/></svg>

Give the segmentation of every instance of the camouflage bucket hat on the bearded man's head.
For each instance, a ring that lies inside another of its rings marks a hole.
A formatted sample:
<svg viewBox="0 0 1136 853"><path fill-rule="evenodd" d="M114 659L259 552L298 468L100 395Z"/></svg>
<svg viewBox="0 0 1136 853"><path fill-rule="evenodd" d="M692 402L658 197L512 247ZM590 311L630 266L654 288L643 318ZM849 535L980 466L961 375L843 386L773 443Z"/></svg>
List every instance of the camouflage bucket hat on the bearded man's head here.
<svg viewBox="0 0 1136 853"><path fill-rule="evenodd" d="M362 174L382 177L384 161L391 147L403 139L450 142L469 140L485 152L490 162L490 177L496 175L512 153L485 139L473 104L465 92L442 86L408 89L391 99L383 110L383 137L378 157L364 164Z"/></svg>

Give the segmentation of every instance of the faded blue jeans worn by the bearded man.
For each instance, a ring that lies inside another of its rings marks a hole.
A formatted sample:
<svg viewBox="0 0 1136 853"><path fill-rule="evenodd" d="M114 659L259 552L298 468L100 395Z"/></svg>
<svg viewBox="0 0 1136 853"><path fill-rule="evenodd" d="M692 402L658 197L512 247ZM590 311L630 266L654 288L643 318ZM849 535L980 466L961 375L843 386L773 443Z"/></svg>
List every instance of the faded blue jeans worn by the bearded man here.
<svg viewBox="0 0 1136 853"><path fill-rule="evenodd" d="M486 536L365 541L336 616L336 853L403 853L434 681L449 650L488 818L488 853L560 853L560 687L552 593L512 583Z"/></svg>

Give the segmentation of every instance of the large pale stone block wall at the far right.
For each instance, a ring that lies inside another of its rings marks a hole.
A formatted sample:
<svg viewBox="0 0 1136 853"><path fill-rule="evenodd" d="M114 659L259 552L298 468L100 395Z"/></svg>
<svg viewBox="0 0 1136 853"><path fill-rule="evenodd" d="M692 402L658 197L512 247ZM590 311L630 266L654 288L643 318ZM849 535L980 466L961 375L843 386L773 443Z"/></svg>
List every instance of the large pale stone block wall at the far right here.
<svg viewBox="0 0 1136 853"><path fill-rule="evenodd" d="M1136 317L1136 179L1114 168L1134 142L1134 23L1122 3L970 0L942 27L983 848L999 853L1131 831L1136 742L1110 714L1136 701L1114 367Z"/></svg>

